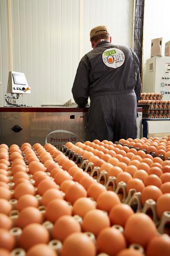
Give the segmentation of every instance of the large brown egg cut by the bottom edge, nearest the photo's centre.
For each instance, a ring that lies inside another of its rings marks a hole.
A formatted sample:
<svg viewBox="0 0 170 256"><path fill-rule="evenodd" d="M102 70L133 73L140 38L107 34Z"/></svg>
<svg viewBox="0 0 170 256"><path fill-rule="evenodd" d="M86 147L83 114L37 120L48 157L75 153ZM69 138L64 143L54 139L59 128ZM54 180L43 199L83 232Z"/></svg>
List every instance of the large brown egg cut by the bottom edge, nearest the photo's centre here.
<svg viewBox="0 0 170 256"><path fill-rule="evenodd" d="M62 256L96 256L96 246L86 234L75 232L63 243Z"/></svg>

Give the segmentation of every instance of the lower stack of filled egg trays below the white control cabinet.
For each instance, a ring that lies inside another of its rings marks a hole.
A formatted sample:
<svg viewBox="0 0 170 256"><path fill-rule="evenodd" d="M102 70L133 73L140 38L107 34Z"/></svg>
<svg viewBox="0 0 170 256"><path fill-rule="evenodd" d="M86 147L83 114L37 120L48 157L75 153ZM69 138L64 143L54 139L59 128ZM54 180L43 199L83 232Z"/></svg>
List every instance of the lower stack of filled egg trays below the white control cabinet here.
<svg viewBox="0 0 170 256"><path fill-rule="evenodd" d="M170 101L138 101L143 118L170 118Z"/></svg>

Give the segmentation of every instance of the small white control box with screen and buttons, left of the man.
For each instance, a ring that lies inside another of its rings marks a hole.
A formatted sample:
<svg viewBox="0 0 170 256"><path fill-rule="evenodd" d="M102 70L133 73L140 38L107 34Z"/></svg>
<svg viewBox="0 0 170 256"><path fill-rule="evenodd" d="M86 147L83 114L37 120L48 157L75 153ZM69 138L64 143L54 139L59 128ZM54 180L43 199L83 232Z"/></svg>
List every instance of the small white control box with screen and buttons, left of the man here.
<svg viewBox="0 0 170 256"><path fill-rule="evenodd" d="M30 94L31 88L28 86L24 73L10 71L8 76L7 93Z"/></svg>

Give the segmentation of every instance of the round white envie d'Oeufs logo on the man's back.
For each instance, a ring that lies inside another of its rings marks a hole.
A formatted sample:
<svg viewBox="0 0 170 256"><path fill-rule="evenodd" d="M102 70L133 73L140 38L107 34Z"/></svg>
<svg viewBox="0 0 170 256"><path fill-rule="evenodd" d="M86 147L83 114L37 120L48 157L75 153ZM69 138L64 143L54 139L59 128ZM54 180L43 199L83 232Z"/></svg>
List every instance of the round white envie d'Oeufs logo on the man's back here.
<svg viewBox="0 0 170 256"><path fill-rule="evenodd" d="M124 64L125 54L120 49L108 48L102 53L102 60L108 67L118 68Z"/></svg>

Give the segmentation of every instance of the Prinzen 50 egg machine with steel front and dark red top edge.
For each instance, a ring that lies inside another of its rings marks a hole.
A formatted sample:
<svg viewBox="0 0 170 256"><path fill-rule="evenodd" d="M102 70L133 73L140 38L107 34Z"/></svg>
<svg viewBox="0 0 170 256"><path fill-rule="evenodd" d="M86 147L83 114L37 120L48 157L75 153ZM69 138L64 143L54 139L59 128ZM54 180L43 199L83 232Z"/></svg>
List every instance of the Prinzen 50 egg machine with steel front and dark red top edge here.
<svg viewBox="0 0 170 256"><path fill-rule="evenodd" d="M0 143L28 142L55 146L86 141L89 107L0 107ZM142 108L138 108L138 135L141 137Z"/></svg>

